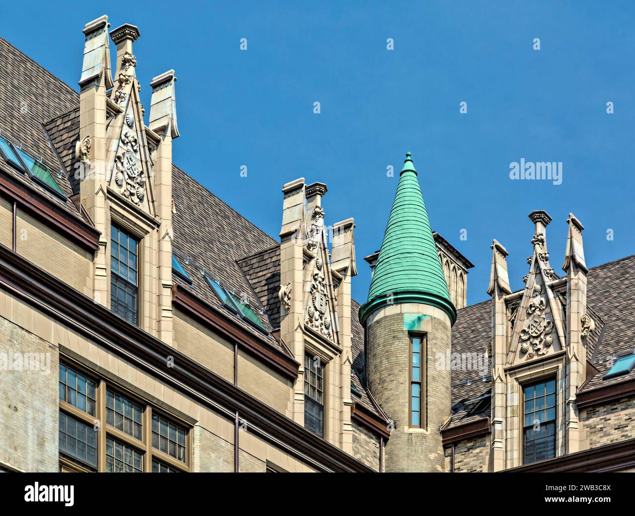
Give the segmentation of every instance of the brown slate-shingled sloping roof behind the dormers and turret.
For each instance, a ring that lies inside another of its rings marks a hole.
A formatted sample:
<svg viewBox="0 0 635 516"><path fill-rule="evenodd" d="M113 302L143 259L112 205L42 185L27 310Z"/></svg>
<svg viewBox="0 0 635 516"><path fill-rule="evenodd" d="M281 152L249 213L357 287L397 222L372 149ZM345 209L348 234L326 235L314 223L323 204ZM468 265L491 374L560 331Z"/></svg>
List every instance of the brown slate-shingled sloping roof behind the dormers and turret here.
<svg viewBox="0 0 635 516"><path fill-rule="evenodd" d="M56 178L67 196L79 191L74 178L74 144L79 139L79 95L70 86L43 69L0 37L0 132L23 144L25 150L42 158L51 171L62 169ZM26 111L21 112L20 107ZM53 147L49 144L51 140ZM0 158L1 161L1 158ZM24 173L4 163L9 173L44 196L80 217L72 201L60 200ZM175 283L192 289L204 301L220 309L222 303L204 281L201 271L220 280L223 287L244 293L262 322L271 330L279 327L279 266L277 240L258 229L173 166L173 214L175 255L192 278L192 285L174 275ZM604 379L612 357L633 353L635 342L635 255L596 266L589 271L587 301L596 329L587 339L587 358L599 370L582 390L592 390L635 378L635 370ZM260 308L263 308L260 313ZM354 400L380 414L364 390L364 330L359 323L360 305L352 300L352 374ZM231 315L231 314L230 314ZM270 334L236 320L246 330L281 347ZM491 340L491 301L458 311L452 329L452 351L483 353ZM600 362L601 360L601 362ZM483 377L485 376L485 381ZM455 411L446 426L456 426L488 416L490 372L452 372L451 399ZM468 384L469 383L469 384ZM476 410L474 410L476 408Z"/></svg>

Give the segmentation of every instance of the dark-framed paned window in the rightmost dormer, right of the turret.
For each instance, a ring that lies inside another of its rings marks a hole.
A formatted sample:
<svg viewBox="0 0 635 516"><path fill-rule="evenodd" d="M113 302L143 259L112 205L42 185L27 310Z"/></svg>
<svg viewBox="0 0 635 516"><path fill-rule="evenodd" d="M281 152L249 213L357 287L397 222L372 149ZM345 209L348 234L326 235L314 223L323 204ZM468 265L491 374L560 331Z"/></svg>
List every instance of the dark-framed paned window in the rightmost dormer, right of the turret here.
<svg viewBox="0 0 635 516"><path fill-rule="evenodd" d="M556 380L523 388L523 464L556 456Z"/></svg>

